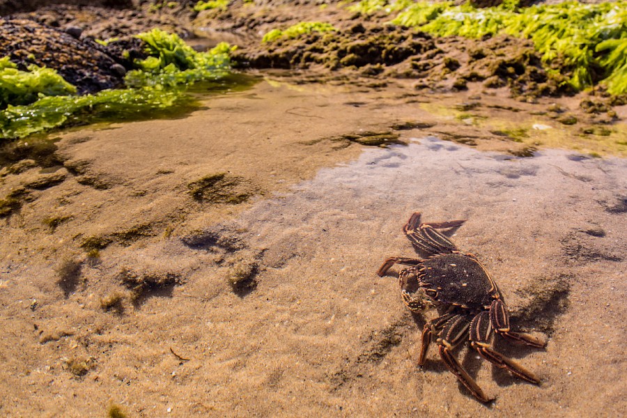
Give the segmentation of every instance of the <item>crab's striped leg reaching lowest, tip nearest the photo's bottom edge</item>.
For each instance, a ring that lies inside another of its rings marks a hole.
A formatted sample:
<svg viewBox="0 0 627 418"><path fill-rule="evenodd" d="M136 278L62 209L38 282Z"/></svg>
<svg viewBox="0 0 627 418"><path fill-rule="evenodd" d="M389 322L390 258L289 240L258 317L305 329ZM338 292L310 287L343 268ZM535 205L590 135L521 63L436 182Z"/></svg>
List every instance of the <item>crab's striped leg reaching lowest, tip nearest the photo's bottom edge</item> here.
<svg viewBox="0 0 627 418"><path fill-rule="evenodd" d="M440 318L438 318L440 319ZM453 315L438 332L438 346L440 348L440 357L447 365L449 371L453 373L458 380L472 393L472 395L481 402L489 402L491 398L481 390L468 372L459 363L458 359L453 355L453 349L462 341L465 341L468 335L469 322L465 316ZM423 333L424 343L424 333Z"/></svg>

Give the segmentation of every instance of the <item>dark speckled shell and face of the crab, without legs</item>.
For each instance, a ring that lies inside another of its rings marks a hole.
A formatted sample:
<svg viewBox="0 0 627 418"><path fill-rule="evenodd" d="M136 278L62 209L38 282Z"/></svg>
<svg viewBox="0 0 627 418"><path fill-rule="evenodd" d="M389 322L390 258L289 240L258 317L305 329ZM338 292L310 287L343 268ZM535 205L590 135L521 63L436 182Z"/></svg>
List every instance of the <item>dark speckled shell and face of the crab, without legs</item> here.
<svg viewBox="0 0 627 418"><path fill-rule="evenodd" d="M401 271L398 278L403 297L410 297L416 309L450 304L481 311L500 299L495 282L472 254L439 254Z"/></svg>

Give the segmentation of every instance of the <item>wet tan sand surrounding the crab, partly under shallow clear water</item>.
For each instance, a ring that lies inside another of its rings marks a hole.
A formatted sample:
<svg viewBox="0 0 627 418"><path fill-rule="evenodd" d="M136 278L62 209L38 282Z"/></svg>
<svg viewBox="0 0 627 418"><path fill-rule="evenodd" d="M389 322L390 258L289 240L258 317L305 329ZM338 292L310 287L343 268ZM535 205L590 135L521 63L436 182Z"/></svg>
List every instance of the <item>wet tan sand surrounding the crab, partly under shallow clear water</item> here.
<svg viewBox="0 0 627 418"><path fill-rule="evenodd" d="M624 159L516 157L526 144L392 86L281 81L65 132L62 166L3 171L3 195L29 196L0 224L3 415L626 412ZM356 144L364 132L408 145ZM477 146L433 137L447 133ZM376 276L415 256L401 227L416 210L467 219L454 242L493 273L513 327L548 338L495 341L541 387L464 348L486 406L433 348L417 366L424 319Z"/></svg>

